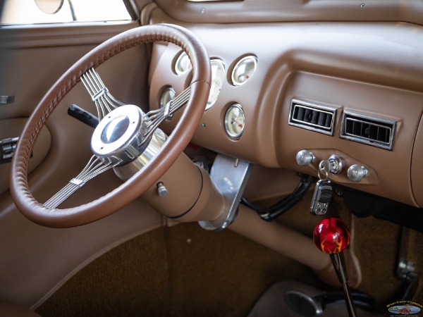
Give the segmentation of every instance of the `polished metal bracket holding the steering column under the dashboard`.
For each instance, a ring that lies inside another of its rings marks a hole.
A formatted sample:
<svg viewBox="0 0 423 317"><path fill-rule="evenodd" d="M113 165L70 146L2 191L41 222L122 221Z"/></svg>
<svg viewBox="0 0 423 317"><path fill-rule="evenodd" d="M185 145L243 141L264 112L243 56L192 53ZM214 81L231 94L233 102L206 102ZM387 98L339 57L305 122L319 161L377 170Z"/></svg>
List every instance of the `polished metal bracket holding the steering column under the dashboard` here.
<svg viewBox="0 0 423 317"><path fill-rule="evenodd" d="M252 164L242 159L218 154L214 160L210 178L223 195L225 206L219 218L212 221L199 221L206 230L223 230L235 219L240 199L243 196Z"/></svg>

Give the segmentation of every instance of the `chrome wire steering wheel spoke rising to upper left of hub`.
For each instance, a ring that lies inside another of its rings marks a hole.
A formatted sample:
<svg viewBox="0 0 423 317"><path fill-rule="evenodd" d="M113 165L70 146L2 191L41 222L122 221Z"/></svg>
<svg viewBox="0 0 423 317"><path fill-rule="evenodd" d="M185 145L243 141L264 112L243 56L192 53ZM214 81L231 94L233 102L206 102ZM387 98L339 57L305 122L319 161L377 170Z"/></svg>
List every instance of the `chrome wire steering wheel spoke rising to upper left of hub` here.
<svg viewBox="0 0 423 317"><path fill-rule="evenodd" d="M102 78L100 78L94 68L87 70L81 76L81 81L90 94L92 101L94 101L100 121L114 108L124 105L110 94L109 89L106 88Z"/></svg>

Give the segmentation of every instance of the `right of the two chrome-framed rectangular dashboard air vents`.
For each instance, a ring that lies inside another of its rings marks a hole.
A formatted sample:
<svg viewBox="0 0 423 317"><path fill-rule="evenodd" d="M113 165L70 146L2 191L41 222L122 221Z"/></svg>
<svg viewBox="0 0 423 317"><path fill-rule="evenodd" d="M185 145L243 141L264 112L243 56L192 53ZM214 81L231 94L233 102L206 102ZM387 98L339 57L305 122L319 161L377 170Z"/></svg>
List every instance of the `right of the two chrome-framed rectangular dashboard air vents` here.
<svg viewBox="0 0 423 317"><path fill-rule="evenodd" d="M392 149L396 121L344 111L341 137L382 149Z"/></svg>

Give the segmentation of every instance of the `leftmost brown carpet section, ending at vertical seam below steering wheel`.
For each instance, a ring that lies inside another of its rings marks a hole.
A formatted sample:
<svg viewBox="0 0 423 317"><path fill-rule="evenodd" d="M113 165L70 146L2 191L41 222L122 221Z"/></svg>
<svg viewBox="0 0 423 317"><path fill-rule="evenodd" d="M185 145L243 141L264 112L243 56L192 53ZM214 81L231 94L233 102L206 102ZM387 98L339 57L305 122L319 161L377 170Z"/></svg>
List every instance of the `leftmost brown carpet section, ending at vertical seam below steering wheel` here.
<svg viewBox="0 0 423 317"><path fill-rule="evenodd" d="M41 316L167 316L168 271L161 230L109 251L37 309Z"/></svg>

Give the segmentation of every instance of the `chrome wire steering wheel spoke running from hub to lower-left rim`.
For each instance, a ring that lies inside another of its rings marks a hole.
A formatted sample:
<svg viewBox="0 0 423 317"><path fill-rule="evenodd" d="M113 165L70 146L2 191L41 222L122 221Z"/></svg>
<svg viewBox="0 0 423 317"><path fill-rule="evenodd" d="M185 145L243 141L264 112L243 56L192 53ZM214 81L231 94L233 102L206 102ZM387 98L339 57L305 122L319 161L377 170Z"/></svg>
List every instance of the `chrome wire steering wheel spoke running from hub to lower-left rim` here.
<svg viewBox="0 0 423 317"><path fill-rule="evenodd" d="M63 201L71 197L71 195L78 189L82 188L89 180L104 173L106 170L114 168L121 163L121 160L112 161L109 158L99 159L93 155L88 161L81 173L68 182L62 189L59 190L53 197L46 201L43 206L54 209L59 206Z"/></svg>

